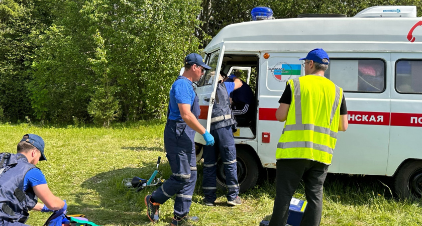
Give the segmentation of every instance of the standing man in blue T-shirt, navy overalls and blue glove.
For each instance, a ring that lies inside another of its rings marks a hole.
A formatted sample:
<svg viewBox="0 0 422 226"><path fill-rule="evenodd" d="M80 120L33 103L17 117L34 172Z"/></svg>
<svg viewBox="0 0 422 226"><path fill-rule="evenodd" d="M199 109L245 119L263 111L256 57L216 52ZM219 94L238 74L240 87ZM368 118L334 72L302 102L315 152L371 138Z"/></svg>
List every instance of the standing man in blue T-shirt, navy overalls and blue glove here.
<svg viewBox="0 0 422 226"><path fill-rule="evenodd" d="M202 134L206 145L214 145L214 137L199 124L198 96L192 82L199 81L205 70L211 69L199 54L191 53L184 59L184 72L170 89L168 117L164 129L164 146L173 173L151 195L145 196L148 218L155 222L159 219L158 208L176 195L174 217L170 225L180 225L182 221L197 221L189 217L192 194L196 183L195 132Z"/></svg>

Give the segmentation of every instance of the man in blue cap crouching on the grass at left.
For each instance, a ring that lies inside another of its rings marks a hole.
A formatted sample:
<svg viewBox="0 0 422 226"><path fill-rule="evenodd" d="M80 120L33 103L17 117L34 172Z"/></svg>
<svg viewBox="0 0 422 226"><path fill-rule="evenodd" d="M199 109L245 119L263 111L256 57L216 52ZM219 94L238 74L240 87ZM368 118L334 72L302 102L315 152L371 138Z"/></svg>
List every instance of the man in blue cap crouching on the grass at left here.
<svg viewBox="0 0 422 226"><path fill-rule="evenodd" d="M26 134L18 143L17 154L0 153L0 226L23 226L29 210L66 211L66 200L53 195L44 174L35 165L47 160L44 140ZM44 204L38 203L38 198Z"/></svg>

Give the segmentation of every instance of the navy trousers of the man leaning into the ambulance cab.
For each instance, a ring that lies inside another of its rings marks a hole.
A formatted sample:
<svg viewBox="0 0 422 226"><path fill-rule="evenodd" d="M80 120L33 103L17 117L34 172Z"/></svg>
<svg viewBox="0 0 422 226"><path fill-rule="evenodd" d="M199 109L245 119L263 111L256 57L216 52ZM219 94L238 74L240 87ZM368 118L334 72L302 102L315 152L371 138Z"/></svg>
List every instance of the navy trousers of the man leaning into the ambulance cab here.
<svg viewBox="0 0 422 226"><path fill-rule="evenodd" d="M214 146L203 147L203 194L208 202L215 202L217 199L217 159L220 153L229 190L227 200L233 201L239 194L239 183L232 126L212 130L210 134L213 135L215 143Z"/></svg>

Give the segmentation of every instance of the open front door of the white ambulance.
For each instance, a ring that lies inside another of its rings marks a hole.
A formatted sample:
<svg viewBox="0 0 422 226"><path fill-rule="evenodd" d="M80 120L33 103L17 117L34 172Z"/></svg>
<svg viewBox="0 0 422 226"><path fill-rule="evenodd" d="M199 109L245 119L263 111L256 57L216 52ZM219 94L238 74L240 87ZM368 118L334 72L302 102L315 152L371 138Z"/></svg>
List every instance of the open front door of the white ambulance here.
<svg viewBox="0 0 422 226"><path fill-rule="evenodd" d="M206 53L206 64L211 69L206 70L205 74L196 83L196 94L199 98L199 123L209 132L211 124L211 113L213 110L214 99L216 96L217 84L219 81L219 74L224 56L224 42L211 48L209 53ZM205 145L202 135L195 134L195 143Z"/></svg>

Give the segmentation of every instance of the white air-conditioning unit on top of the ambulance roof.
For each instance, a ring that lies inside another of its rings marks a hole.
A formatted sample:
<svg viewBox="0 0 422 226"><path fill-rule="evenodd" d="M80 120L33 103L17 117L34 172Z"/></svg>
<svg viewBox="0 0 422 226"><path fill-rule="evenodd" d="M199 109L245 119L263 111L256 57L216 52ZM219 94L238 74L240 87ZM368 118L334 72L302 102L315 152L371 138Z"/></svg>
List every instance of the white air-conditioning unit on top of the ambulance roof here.
<svg viewBox="0 0 422 226"><path fill-rule="evenodd" d="M416 7L376 6L362 10L354 17L416 17Z"/></svg>

